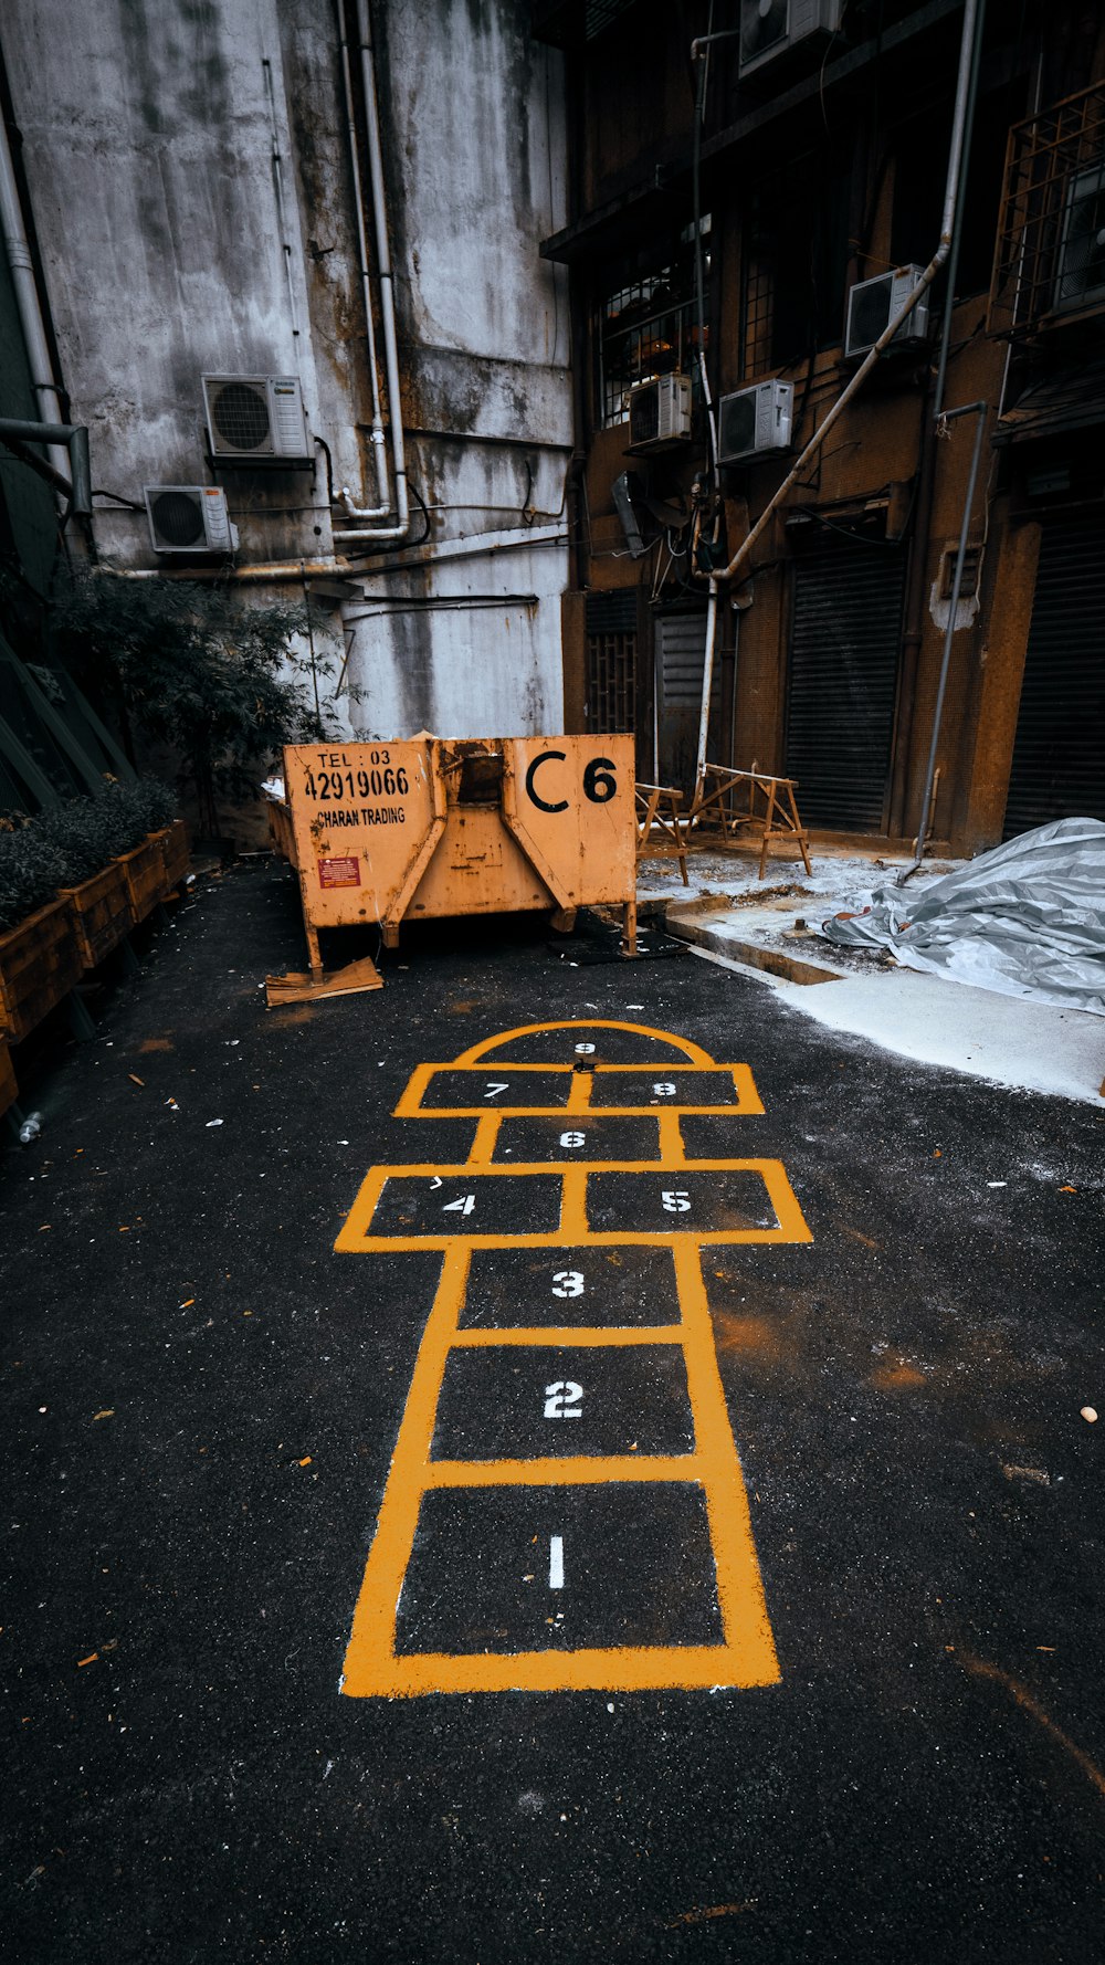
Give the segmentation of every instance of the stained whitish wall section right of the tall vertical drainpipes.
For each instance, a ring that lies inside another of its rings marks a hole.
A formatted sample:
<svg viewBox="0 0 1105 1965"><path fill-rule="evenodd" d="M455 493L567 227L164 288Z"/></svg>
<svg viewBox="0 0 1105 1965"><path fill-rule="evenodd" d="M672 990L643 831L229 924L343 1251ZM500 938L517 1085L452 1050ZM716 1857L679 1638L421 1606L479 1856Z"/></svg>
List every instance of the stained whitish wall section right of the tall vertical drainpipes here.
<svg viewBox="0 0 1105 1965"><path fill-rule="evenodd" d="M564 531L572 450L566 277L537 252L564 222L560 57L515 0L376 20L409 474L431 531L346 615L350 717L374 737L560 729L566 546L527 538Z"/></svg>

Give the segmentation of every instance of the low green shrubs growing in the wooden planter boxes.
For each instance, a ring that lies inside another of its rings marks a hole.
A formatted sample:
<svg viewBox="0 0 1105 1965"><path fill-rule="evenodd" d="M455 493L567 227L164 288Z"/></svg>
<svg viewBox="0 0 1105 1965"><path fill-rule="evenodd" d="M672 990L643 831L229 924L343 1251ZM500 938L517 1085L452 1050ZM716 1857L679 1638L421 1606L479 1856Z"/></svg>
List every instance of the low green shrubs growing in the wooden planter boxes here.
<svg viewBox="0 0 1105 1965"><path fill-rule="evenodd" d="M138 778L106 784L94 798L69 798L33 819L0 819L0 933L45 908L59 886L81 886L142 845L175 810L169 786Z"/></svg>

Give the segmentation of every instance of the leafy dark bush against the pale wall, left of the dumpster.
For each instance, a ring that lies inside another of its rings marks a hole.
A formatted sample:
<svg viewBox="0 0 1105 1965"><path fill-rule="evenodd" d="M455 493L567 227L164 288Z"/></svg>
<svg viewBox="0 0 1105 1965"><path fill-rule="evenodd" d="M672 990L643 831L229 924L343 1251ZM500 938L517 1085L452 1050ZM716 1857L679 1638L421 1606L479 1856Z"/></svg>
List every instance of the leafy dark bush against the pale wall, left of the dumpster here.
<svg viewBox="0 0 1105 1965"><path fill-rule="evenodd" d="M285 743L326 737L319 674L297 652L303 607L244 605L222 586L87 574L55 599L57 654L114 707L124 741L169 745L214 833L216 790L254 794Z"/></svg>

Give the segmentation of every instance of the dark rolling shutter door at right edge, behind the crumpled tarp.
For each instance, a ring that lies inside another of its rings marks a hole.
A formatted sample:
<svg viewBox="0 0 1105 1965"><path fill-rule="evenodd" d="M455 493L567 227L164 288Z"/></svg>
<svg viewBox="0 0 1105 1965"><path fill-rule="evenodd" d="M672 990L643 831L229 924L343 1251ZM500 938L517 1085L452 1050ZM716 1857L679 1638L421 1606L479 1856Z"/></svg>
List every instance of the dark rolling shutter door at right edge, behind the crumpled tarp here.
<svg viewBox="0 0 1105 1965"><path fill-rule="evenodd" d="M1105 521L1046 527L1017 713L1005 839L1105 819Z"/></svg>

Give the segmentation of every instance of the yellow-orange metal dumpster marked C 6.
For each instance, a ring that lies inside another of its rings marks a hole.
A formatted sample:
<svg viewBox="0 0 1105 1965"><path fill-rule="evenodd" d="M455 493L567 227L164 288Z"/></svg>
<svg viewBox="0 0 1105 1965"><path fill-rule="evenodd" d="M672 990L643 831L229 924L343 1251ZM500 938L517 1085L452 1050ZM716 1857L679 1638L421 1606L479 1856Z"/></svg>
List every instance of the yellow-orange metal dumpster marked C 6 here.
<svg viewBox="0 0 1105 1965"><path fill-rule="evenodd" d="M619 904L635 947L631 737L486 737L291 745L273 845L295 865L309 977L269 979L269 1002L378 988L374 963L324 977L320 927Z"/></svg>

